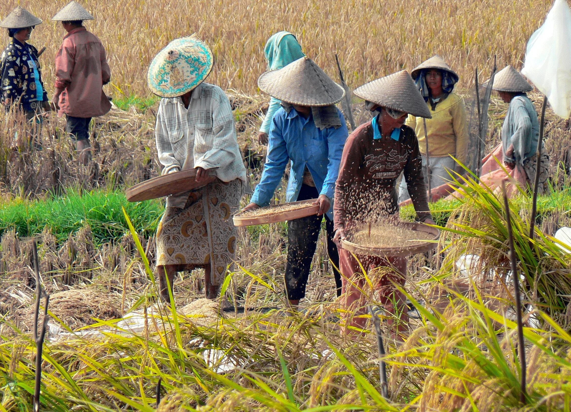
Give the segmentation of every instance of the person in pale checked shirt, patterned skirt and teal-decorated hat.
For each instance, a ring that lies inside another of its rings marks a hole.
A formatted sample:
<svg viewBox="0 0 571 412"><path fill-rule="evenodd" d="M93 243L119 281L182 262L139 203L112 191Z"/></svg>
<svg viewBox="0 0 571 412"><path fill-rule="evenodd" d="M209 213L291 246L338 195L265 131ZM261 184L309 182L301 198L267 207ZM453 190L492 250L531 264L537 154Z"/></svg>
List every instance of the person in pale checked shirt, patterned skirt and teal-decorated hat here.
<svg viewBox="0 0 571 412"><path fill-rule="evenodd" d="M246 168L230 100L204 82L213 64L206 43L183 37L161 50L147 73L148 87L162 97L155 126L162 174L194 168L197 182L216 176L200 189L167 197L156 232L156 271L167 302L176 272L195 268L204 268L206 297L216 298L236 251L232 213L244 193Z"/></svg>

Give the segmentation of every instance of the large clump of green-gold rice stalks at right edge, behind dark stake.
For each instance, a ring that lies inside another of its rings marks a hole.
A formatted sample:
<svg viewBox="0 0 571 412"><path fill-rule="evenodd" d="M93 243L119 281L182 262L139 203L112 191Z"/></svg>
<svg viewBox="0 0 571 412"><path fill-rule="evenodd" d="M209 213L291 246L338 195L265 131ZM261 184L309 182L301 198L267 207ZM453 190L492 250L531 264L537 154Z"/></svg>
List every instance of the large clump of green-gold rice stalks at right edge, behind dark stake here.
<svg viewBox="0 0 571 412"><path fill-rule="evenodd" d="M477 255L478 282L490 280L509 282L508 229L503 200L498 193L480 185L475 176L469 176L463 183L456 180L460 202L441 227L441 247L446 253L441 276L457 272L456 261L465 255ZM519 196L510 201L514 247L518 272L524 277L528 304L539 305L547 313L558 317L565 312L571 296L571 260L562 244L554 237L537 229L534 239L529 237L530 198L522 189ZM542 197L541 208L549 210L558 201L566 199L569 192L556 195L554 203ZM563 203L565 207L565 203ZM557 205L556 207L561 207ZM440 276L440 275L439 275Z"/></svg>

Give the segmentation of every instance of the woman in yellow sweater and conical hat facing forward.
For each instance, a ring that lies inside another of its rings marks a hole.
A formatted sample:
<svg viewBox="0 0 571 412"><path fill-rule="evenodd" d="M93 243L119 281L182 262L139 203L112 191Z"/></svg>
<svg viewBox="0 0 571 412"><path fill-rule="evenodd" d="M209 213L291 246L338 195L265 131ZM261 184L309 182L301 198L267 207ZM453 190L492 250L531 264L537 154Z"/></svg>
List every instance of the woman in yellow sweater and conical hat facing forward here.
<svg viewBox="0 0 571 412"><path fill-rule="evenodd" d="M411 73L416 86L423 95L432 119L426 119L428 132L428 154L431 188L438 187L450 179L448 169L463 171L451 156L460 163L467 162L468 124L462 98L453 92L458 75L439 56L433 56L421 63ZM426 142L422 118L409 115L407 126L413 128L419 140L426 168ZM426 175L426 173L425 173ZM427 177L425 176L425 181ZM399 202L409 199L407 183L401 180Z"/></svg>

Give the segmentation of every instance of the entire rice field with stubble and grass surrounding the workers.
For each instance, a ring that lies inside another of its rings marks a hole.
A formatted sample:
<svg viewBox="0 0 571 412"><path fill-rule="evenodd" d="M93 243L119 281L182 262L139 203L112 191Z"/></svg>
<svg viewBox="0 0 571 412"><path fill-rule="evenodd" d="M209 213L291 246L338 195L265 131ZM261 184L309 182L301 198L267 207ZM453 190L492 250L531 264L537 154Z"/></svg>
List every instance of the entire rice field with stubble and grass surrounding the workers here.
<svg viewBox="0 0 571 412"><path fill-rule="evenodd" d="M17 4L10 1L0 3L1 18ZM65 34L50 18L67 1L20 2L45 21L30 42L47 47L41 60L50 92ZM198 33L211 46L216 64L209 81L234 89L227 93L252 181L260 175L264 148L254 140L266 101L256 80L266 70L266 39L276 31L295 33L335 79L337 52L352 88L439 53L467 90L474 68L487 76L494 55L500 68L521 67L526 41L551 4L80 2L96 17L86 26L108 51L112 84L106 91L117 106L126 96L149 95L148 63L171 39ZM540 95L530 96L539 107ZM164 205L127 203L123 195L160 172L152 102L151 110L113 108L95 120L89 167L77 163L63 119L46 119L39 151L23 141L21 119L0 116L0 412L27 412L34 405L33 237L41 284L50 294L39 362L42 411L571 410L571 253L552 237L571 226L569 122L548 110L554 190L539 198L533 239L530 196L521 193L509 203L524 287L523 343L516 334L503 199L475 180L461 185L461 199L431 204L441 237L436 253L409 258L404 288L411 328L400 342L387 323L394 316L381 310L372 289L381 272L369 273L363 289L380 317L380 335L372 322L362 334L345 333L323 233L301 310L288 312L285 224L240 228L236 265L221 298L200 299L204 276L195 270L176 277L175 306L159 302L154 233ZM367 116L362 106L353 107L359 121ZM492 96L489 147L499 139L505 111ZM283 192L277 195L282 200ZM413 215L411 207L401 209L403 220ZM527 362L524 390L520 348Z"/></svg>

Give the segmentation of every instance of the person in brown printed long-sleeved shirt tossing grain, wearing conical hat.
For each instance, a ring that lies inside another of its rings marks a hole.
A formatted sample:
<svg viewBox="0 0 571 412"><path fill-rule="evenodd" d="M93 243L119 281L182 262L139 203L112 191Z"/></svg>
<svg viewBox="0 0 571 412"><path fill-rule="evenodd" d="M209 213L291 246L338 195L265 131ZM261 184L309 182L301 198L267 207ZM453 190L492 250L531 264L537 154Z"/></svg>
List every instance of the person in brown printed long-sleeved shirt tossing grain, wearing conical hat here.
<svg viewBox="0 0 571 412"><path fill-rule="evenodd" d="M346 326L363 329L362 317L367 301L363 295L365 272L383 274L375 293L387 312L400 318L395 334L408 329L406 300L391 281L404 285L407 260L404 257L357 256L343 249L340 240L345 230L362 223L381 223L397 219L396 180L401 172L408 184L419 221L433 224L428 209L419 142L415 131L406 126L407 114L431 117L422 96L407 71L399 71L364 84L354 91L366 107L378 112L370 122L361 124L347 139L335 189L335 241L339 248L339 267L343 274L343 296L347 307Z"/></svg>

